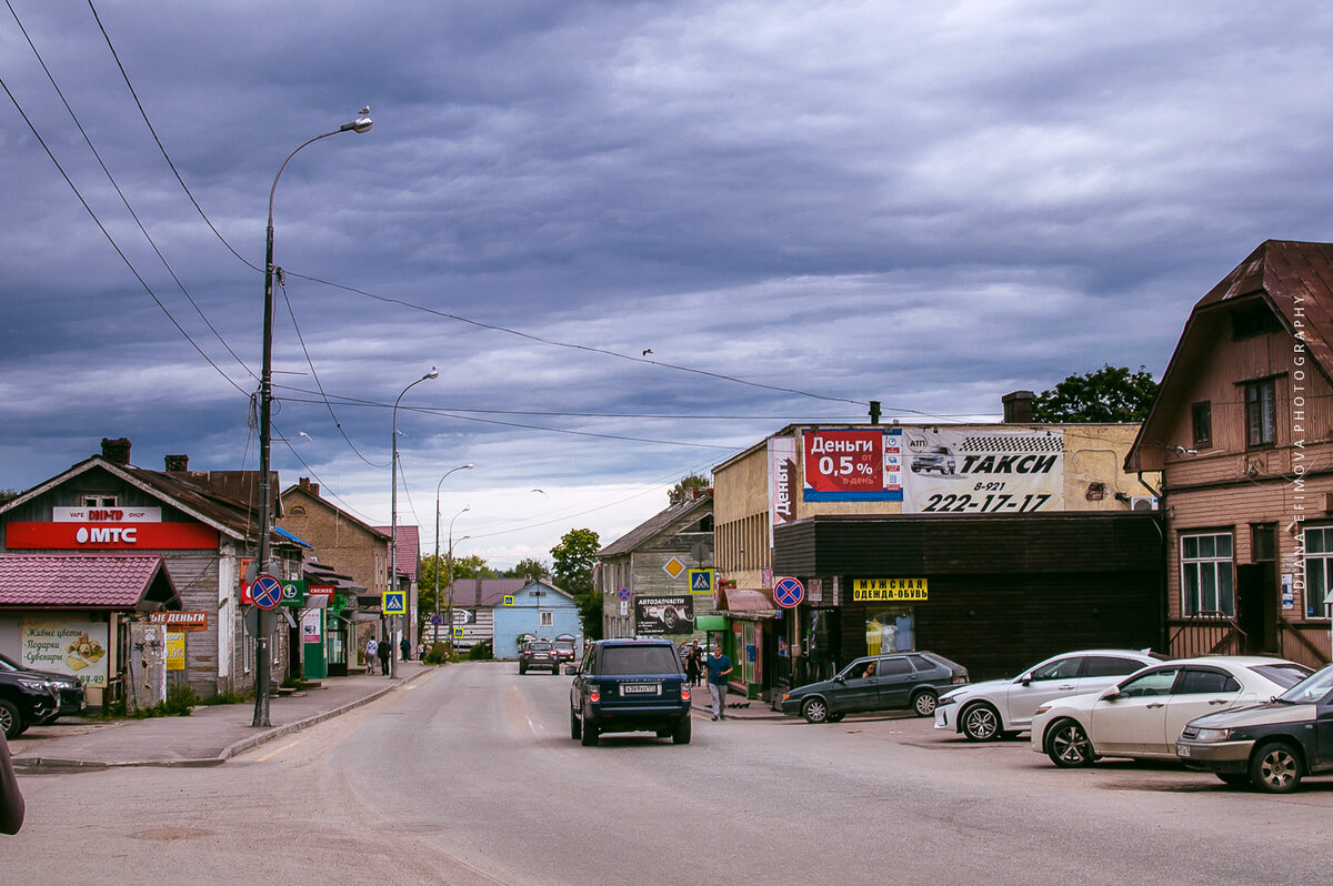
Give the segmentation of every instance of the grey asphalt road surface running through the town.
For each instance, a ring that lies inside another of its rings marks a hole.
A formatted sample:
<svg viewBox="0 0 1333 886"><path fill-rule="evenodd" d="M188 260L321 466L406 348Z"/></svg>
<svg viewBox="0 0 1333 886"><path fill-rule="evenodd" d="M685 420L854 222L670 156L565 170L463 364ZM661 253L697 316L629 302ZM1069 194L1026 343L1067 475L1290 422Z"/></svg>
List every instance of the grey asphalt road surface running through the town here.
<svg viewBox="0 0 1333 886"><path fill-rule="evenodd" d="M569 739L564 677L444 669L213 769L24 775L5 879L200 883L1309 883L1333 781L1056 770L916 718L696 717ZM188 874L188 877L187 877Z"/></svg>

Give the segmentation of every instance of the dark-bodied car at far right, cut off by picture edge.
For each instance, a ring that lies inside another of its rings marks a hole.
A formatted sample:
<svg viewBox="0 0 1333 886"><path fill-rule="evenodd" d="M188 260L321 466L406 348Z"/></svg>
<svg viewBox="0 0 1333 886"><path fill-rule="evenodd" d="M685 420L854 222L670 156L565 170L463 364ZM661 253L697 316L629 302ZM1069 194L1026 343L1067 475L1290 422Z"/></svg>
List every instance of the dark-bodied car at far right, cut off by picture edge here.
<svg viewBox="0 0 1333 886"><path fill-rule="evenodd" d="M1189 721L1176 755L1228 785L1250 783L1270 794L1333 771L1333 665L1265 705Z"/></svg>

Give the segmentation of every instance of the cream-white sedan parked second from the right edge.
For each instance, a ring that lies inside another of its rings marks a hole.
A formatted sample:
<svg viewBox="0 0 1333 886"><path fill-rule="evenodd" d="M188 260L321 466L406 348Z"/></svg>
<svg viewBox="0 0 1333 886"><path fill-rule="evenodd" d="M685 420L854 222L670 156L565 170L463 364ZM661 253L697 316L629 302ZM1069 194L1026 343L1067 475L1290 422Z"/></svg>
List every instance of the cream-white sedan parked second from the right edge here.
<svg viewBox="0 0 1333 886"><path fill-rule="evenodd" d="M1100 693L1037 707L1032 749L1061 767L1089 766L1098 757L1176 759L1176 739L1189 721L1266 702L1309 673L1293 661L1254 656L1161 662Z"/></svg>

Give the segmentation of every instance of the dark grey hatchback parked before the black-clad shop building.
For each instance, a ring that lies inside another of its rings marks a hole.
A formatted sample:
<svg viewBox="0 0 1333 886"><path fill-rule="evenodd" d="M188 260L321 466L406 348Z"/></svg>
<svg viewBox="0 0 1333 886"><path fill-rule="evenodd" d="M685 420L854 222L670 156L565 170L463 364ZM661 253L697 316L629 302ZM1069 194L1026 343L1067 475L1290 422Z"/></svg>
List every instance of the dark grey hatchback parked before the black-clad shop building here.
<svg viewBox="0 0 1333 886"><path fill-rule="evenodd" d="M832 679L782 695L782 713L810 723L836 723L846 714L910 707L934 713L940 693L968 682L968 669L930 652L857 658Z"/></svg>

